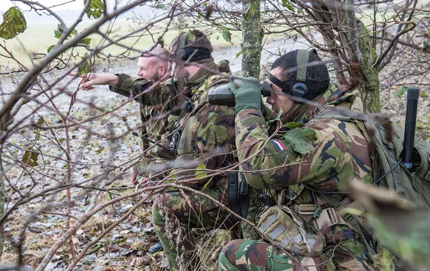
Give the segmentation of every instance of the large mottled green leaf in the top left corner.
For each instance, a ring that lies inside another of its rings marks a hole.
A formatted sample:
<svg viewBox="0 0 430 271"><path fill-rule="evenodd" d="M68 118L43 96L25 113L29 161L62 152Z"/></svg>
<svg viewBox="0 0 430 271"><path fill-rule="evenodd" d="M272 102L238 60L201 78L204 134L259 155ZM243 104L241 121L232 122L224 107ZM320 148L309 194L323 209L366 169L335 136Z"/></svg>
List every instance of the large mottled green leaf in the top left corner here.
<svg viewBox="0 0 430 271"><path fill-rule="evenodd" d="M0 37L10 39L24 32L27 22L22 12L17 7L12 7L3 14L3 22L0 24Z"/></svg>

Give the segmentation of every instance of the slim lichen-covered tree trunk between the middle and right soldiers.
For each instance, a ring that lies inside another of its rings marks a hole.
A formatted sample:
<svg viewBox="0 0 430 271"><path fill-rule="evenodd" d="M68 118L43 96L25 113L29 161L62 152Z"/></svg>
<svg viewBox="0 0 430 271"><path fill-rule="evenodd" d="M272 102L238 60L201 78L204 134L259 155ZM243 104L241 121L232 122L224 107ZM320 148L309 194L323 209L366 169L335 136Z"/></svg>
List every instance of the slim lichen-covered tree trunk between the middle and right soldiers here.
<svg viewBox="0 0 430 271"><path fill-rule="evenodd" d="M242 72L244 77L260 77L262 28L260 22L260 0L243 2L242 21ZM241 174L242 175L242 174ZM242 180L245 182L245 180ZM247 219L258 221L258 190L249 186L249 209ZM258 240L260 237L250 225L242 223L244 238Z"/></svg>

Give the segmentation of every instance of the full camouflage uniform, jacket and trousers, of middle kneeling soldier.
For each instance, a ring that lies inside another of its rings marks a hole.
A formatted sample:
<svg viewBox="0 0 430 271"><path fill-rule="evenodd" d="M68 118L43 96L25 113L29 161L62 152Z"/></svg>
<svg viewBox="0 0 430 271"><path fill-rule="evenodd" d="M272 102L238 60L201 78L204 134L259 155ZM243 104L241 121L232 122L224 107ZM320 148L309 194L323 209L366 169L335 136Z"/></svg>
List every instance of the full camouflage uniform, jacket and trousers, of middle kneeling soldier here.
<svg viewBox="0 0 430 271"><path fill-rule="evenodd" d="M195 76L198 79L191 78L191 81L201 82L192 87L193 110L182 116L177 125L177 129L182 129L182 134L177 147L177 168L171 172L174 175L172 181L179 183L184 179L194 179L180 184L197 189L228 206L227 175L206 177L209 173L204 169L219 169L234 161L234 108L209 104L209 89L227 80L223 76L201 71ZM177 191L159 195L152 209L154 229L172 270L178 270L177 261L187 263L182 246L185 251L192 251L192 245L187 245L192 244L189 235L179 244L171 244L166 223L172 221L172 215L180 221L182 232L191 228L230 229L233 226L228 212L202 196Z"/></svg>

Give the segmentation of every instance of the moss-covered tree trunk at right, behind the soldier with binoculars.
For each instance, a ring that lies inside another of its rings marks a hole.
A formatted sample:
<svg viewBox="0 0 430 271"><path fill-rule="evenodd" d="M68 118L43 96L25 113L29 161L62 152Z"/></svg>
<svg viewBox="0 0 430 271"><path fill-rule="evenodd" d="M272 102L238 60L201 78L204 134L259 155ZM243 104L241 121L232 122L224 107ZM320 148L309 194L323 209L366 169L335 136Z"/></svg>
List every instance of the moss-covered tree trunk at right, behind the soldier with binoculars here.
<svg viewBox="0 0 430 271"><path fill-rule="evenodd" d="M361 93L364 111L367 113L378 113L381 111L379 100L379 71L378 66L373 64L378 59L376 48L372 42L372 37L368 35L370 30L366 29L363 23L358 22L359 46L362 54L360 61L361 74L358 76L357 89Z"/></svg>

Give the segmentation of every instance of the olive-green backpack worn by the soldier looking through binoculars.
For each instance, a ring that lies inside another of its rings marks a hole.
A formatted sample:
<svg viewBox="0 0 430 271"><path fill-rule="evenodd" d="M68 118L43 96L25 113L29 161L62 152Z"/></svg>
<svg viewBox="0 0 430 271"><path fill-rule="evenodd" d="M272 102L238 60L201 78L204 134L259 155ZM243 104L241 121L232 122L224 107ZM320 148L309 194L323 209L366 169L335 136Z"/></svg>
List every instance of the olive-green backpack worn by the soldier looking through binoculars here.
<svg viewBox="0 0 430 271"><path fill-rule="evenodd" d="M346 108L323 110L317 118L353 121L371 144L372 185L387 187L400 197L430 209L430 144L415 138L413 167L402 159L404 130L382 114L363 114Z"/></svg>

